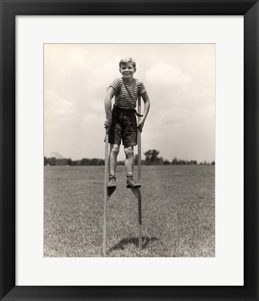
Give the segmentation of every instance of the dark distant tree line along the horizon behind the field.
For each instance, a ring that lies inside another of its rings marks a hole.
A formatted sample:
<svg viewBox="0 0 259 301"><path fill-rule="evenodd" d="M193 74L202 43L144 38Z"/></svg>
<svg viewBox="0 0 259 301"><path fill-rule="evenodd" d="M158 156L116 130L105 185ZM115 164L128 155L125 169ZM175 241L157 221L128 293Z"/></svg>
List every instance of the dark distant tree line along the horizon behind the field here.
<svg viewBox="0 0 259 301"><path fill-rule="evenodd" d="M167 159L163 159L163 157L158 157L159 151L156 150L149 150L144 153L145 160L141 160L142 165L207 165L212 164L214 165L215 162L197 162L197 160L182 160L175 157L172 159L172 161L168 161ZM138 164L138 155L135 155L134 157L135 165ZM124 165L125 161L118 161L118 165ZM82 158L81 160L71 160L71 158L56 158L56 157L44 157L44 165L45 166L89 166L89 165L104 165L105 160L104 159L88 159L88 158Z"/></svg>

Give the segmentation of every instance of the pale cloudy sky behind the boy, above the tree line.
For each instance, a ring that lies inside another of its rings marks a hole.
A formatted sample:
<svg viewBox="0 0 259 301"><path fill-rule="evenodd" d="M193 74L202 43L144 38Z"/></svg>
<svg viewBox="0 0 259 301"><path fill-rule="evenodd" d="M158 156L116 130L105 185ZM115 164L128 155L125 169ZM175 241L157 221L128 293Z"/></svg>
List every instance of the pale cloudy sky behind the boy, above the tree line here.
<svg viewBox="0 0 259 301"><path fill-rule="evenodd" d="M44 155L104 158L104 98L124 57L151 103L142 159L156 149L169 161L215 160L214 44L45 44Z"/></svg>

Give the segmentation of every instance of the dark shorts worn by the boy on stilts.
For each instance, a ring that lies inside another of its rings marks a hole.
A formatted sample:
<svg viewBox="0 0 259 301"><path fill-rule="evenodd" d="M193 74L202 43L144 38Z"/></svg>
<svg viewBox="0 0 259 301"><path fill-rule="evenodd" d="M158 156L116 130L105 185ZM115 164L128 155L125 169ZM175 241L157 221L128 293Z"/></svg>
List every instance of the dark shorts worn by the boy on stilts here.
<svg viewBox="0 0 259 301"><path fill-rule="evenodd" d="M135 146L138 142L137 118L133 110L112 108L112 125L109 130L109 143Z"/></svg>

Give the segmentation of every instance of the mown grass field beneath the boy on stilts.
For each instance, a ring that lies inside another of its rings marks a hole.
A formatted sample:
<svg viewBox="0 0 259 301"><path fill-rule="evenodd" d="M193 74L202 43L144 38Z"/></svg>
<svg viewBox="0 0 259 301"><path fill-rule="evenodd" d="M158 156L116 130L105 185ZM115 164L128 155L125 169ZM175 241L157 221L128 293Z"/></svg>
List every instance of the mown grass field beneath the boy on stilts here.
<svg viewBox="0 0 259 301"><path fill-rule="evenodd" d="M139 252L138 200L119 166L108 200L107 256L215 256L214 173L212 165L142 167ZM44 167L45 256L102 256L103 180L103 166Z"/></svg>

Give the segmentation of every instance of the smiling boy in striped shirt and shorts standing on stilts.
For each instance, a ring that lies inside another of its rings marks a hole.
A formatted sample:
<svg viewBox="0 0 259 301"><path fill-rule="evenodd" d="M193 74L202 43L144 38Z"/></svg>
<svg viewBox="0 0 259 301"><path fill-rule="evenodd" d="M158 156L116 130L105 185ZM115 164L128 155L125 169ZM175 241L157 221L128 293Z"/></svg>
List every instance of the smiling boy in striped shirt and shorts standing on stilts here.
<svg viewBox="0 0 259 301"><path fill-rule="evenodd" d="M105 97L106 120L104 126L109 131L110 143L110 178L108 187L116 187L115 173L121 139L126 155L126 187L141 187L139 183L135 183L133 180L133 147L137 145L137 129L142 132L149 112L150 101L144 84L140 80L133 78L136 72L136 64L133 59L121 59L119 62L119 72L122 77L114 79ZM114 95L115 102L112 107L112 98ZM140 115L142 119L137 124L135 107L139 95L141 95L145 107L143 116Z"/></svg>

